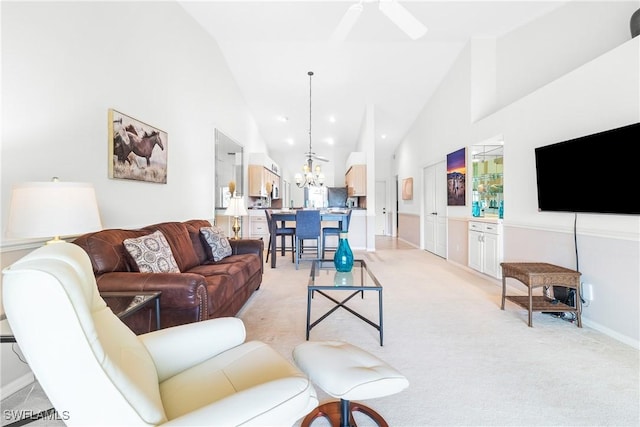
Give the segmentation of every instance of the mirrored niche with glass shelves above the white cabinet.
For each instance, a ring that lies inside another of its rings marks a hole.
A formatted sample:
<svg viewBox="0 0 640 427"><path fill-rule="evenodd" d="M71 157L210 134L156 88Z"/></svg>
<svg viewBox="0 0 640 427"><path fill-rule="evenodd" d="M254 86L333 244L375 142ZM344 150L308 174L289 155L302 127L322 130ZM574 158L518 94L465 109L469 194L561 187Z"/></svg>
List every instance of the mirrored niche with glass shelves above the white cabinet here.
<svg viewBox="0 0 640 427"><path fill-rule="evenodd" d="M479 215L474 216L499 216L504 191L503 153L501 137L471 146L473 202L480 206Z"/></svg>

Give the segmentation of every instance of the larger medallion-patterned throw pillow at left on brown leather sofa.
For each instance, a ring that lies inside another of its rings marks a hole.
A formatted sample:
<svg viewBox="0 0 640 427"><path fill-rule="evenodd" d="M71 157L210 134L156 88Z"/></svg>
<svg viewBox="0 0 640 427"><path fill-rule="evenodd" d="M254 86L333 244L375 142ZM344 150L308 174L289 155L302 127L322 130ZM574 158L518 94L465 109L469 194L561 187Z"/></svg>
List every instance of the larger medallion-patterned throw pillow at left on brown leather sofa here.
<svg viewBox="0 0 640 427"><path fill-rule="evenodd" d="M160 231L124 240L141 273L180 273L169 242Z"/></svg>

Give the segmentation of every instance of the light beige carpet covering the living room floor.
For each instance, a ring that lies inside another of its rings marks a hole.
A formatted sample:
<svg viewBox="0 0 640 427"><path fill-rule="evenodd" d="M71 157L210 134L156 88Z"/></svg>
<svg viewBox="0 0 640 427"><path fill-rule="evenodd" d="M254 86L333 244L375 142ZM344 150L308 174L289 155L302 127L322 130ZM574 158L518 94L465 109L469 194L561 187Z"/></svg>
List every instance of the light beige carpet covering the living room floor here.
<svg viewBox="0 0 640 427"><path fill-rule="evenodd" d="M405 391L363 402L390 426L640 425L636 349L543 313L534 313L529 328L525 310L510 302L500 310L495 282L425 251L356 257L364 257L384 287L384 346L373 327L342 309L310 339L355 344L407 376ZM305 340L309 263L296 271L290 259L279 256L276 269L265 265L262 287L239 317L248 339L268 342L292 360ZM377 319L375 293L349 305ZM323 307L331 304L316 296L312 313ZM317 390L322 403L331 400Z"/></svg>

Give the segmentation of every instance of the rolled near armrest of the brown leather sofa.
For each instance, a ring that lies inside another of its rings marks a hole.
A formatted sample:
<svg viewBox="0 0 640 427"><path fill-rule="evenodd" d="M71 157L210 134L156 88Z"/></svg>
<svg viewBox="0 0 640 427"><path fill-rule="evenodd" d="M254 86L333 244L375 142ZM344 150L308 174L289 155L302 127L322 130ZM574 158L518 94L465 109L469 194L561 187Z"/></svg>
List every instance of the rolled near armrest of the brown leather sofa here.
<svg viewBox="0 0 640 427"><path fill-rule="evenodd" d="M112 272L96 278L100 292L161 291L160 306L193 308L207 311L207 282L195 273Z"/></svg>

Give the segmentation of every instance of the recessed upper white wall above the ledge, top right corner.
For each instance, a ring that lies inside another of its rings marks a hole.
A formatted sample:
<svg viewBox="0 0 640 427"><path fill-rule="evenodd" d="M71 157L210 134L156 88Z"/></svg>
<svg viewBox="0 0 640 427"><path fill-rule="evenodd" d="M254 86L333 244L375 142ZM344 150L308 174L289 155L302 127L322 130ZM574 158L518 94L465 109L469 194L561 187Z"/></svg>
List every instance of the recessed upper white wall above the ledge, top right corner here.
<svg viewBox="0 0 640 427"><path fill-rule="evenodd" d="M504 107L631 37L637 1L573 1L497 40L498 106Z"/></svg>

